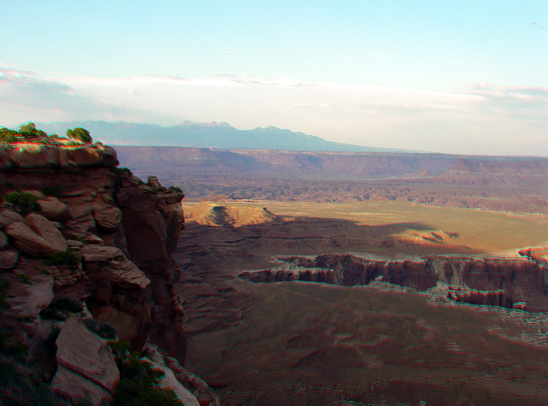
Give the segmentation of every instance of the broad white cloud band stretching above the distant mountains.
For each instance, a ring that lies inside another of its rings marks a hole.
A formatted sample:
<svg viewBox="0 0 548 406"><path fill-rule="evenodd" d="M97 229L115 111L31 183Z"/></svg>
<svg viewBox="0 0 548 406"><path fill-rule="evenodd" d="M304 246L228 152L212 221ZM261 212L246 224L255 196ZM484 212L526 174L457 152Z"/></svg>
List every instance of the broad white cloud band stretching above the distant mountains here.
<svg viewBox="0 0 548 406"><path fill-rule="evenodd" d="M0 121L226 121L327 140L440 151L548 155L548 89L473 84L424 92L218 75L121 79L0 71Z"/></svg>

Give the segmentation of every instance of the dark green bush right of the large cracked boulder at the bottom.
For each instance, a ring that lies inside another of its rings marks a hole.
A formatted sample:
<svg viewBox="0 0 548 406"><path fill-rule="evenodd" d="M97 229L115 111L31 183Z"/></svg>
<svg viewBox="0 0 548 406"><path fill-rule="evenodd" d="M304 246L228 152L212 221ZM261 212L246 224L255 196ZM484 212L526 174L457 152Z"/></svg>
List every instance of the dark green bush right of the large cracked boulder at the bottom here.
<svg viewBox="0 0 548 406"><path fill-rule="evenodd" d="M154 369L152 364L141 361L140 355L132 351L127 341L109 342L116 365L120 370L120 382L116 386L112 406L181 406L173 390L162 390L155 385L164 377L164 372Z"/></svg>

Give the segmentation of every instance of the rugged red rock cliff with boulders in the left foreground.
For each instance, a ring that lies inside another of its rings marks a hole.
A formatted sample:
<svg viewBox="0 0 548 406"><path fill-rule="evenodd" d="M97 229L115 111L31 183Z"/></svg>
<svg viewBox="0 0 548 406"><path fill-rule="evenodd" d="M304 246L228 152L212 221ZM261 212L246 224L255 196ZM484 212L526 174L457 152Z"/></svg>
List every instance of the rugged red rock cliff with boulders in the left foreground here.
<svg viewBox="0 0 548 406"><path fill-rule="evenodd" d="M183 301L173 291L181 271L171 251L184 229L184 194L155 177L144 183L118 164L114 149L97 143L35 137L0 144L0 276L8 305L0 327L8 344L29 348L28 357L49 371L51 388L69 401L88 393L99 404L114 393L118 370L97 335L110 329L136 351L156 348L151 362L169 370L165 385L178 398L219 404L183 368ZM51 349L56 334L51 355L45 346Z"/></svg>

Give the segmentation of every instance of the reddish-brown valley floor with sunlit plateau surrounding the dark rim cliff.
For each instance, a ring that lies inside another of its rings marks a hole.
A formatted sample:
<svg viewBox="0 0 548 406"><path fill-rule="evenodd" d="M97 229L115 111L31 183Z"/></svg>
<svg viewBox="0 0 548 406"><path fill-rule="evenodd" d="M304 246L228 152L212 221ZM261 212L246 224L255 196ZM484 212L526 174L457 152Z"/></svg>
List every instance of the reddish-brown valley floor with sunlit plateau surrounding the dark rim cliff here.
<svg viewBox="0 0 548 406"><path fill-rule="evenodd" d="M266 206L266 210L265 207ZM275 255L515 252L547 218L370 201L185 203L174 257L187 366L223 405L544 405L545 314L463 305L443 286L249 283Z"/></svg>

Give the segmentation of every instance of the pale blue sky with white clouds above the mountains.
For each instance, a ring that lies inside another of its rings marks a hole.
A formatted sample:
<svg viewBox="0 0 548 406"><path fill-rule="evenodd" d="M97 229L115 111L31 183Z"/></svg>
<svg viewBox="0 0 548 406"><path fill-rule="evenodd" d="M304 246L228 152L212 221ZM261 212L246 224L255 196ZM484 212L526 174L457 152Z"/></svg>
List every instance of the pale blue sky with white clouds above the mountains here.
<svg viewBox="0 0 548 406"><path fill-rule="evenodd" d="M28 120L548 156L548 0L0 0L0 126Z"/></svg>

